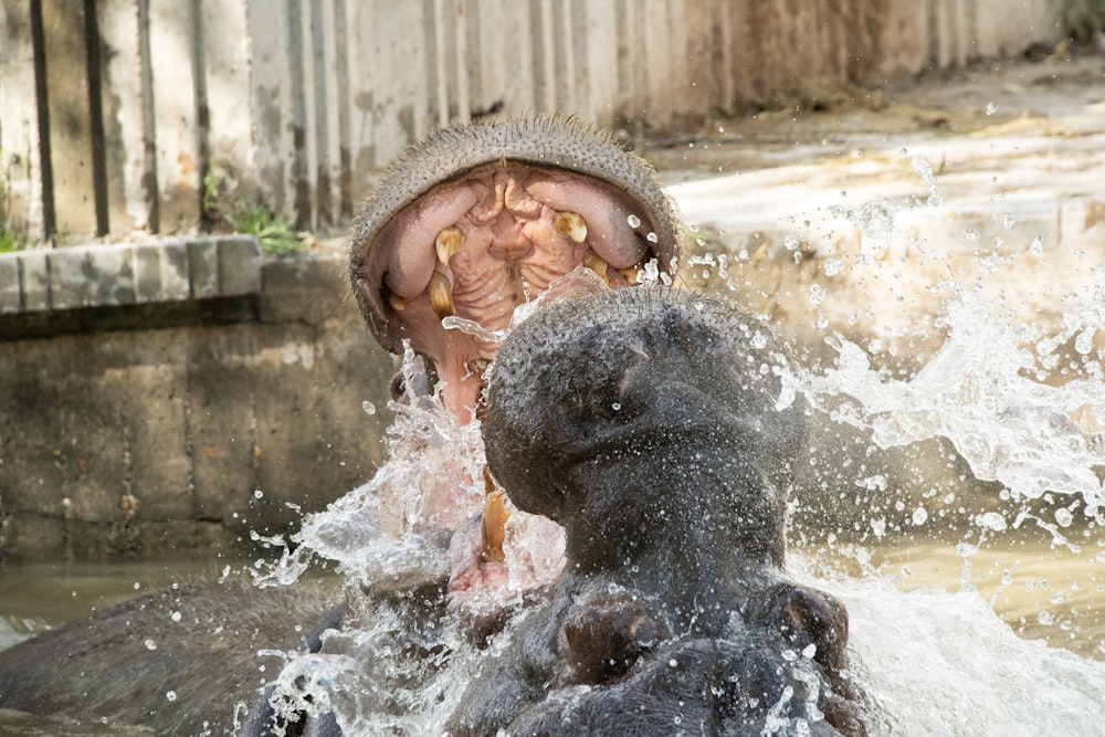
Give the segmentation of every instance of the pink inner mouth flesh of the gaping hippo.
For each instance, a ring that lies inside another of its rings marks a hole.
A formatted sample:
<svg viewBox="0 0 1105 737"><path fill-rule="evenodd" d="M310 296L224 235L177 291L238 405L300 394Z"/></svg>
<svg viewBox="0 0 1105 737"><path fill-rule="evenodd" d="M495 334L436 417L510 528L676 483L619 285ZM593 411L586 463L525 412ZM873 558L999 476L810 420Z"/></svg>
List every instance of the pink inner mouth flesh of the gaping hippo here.
<svg viewBox="0 0 1105 737"><path fill-rule="evenodd" d="M412 348L433 362L438 379L445 383L445 408L467 423L476 414L483 368L494 359L497 346L442 327L427 292L431 274L436 271L449 280L457 317L503 329L518 305L579 266L588 249L609 264L610 286L628 285L618 270L640 264L649 253L648 219L638 210L620 190L593 179L513 161L487 165L422 196L373 240L370 271L383 272L383 285L406 302L401 312L371 285L359 288L388 316L389 331L410 339ZM587 236L581 243L557 232L558 212L582 217ZM638 229L629 224L633 214L643 223ZM438 233L450 227L460 231L461 245L442 264L433 244ZM442 483L455 488L448 480ZM431 496L449 493L444 488ZM483 561L481 552L482 527L471 525L454 533L450 580L454 599L462 593L471 599L508 580L506 564Z"/></svg>

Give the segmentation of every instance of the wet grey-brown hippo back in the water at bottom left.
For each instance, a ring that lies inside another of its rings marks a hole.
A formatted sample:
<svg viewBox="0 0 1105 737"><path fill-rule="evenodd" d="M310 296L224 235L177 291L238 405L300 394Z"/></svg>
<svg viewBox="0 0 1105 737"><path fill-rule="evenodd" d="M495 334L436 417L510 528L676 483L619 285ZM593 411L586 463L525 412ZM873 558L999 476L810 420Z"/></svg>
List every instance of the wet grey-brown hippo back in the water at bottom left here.
<svg viewBox="0 0 1105 737"><path fill-rule="evenodd" d="M229 734L235 706L244 713L271 677L261 665L281 664L257 651L309 647L320 621L338 621L340 610L326 615L327 593L232 581L128 601L0 653L0 708Z"/></svg>

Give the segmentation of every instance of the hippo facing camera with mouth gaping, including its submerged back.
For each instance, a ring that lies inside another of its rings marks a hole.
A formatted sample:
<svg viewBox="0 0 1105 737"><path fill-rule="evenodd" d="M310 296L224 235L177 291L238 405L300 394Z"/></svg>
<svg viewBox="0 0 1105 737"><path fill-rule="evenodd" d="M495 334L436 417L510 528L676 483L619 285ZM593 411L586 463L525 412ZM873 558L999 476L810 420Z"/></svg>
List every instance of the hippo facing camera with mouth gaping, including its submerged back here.
<svg viewBox="0 0 1105 737"><path fill-rule="evenodd" d="M650 264L672 270L680 232L651 167L577 118L459 125L412 146L380 178L354 227L349 273L370 333L391 351L409 345L421 355L449 411L469 422L496 346L445 329L444 318L501 330L519 303L581 266L631 286ZM397 387L400 399L410 391ZM448 509L454 493L455 480L442 480L425 505ZM428 519L448 536L467 516ZM481 545L459 546L476 552L459 558L467 575L454 580L503 566L503 516L487 515ZM430 592L427 611L444 615L445 583L412 583ZM301 589L190 583L45 632L0 656L0 708L160 734L228 729L267 681L259 650L314 651L322 631L341 625L340 601ZM246 733L265 731L261 712Z"/></svg>

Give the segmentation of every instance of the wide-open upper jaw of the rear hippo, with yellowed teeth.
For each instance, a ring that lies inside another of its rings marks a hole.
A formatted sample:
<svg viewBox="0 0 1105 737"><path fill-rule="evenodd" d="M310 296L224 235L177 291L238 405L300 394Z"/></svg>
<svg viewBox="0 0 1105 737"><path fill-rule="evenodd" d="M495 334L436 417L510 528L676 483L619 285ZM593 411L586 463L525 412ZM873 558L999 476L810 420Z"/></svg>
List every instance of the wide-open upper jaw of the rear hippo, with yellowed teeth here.
<svg viewBox="0 0 1105 737"><path fill-rule="evenodd" d="M580 120L474 124L391 166L357 221L350 277L375 337L392 352L409 340L466 422L496 346L443 318L503 329L579 266L635 284L652 260L672 269L678 233L651 167Z"/></svg>

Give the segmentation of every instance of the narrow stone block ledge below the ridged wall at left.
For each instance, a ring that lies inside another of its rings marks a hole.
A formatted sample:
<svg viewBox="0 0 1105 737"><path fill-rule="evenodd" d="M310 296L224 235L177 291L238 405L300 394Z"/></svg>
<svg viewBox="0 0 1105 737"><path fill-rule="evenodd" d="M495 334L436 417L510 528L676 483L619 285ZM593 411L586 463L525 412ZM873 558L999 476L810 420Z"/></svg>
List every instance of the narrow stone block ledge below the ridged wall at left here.
<svg viewBox="0 0 1105 737"><path fill-rule="evenodd" d="M252 235L0 254L0 315L239 297L261 291Z"/></svg>

